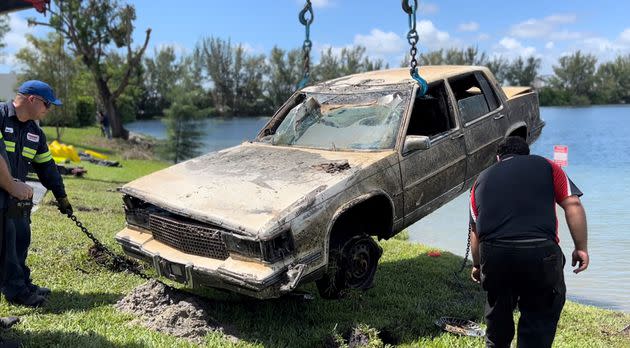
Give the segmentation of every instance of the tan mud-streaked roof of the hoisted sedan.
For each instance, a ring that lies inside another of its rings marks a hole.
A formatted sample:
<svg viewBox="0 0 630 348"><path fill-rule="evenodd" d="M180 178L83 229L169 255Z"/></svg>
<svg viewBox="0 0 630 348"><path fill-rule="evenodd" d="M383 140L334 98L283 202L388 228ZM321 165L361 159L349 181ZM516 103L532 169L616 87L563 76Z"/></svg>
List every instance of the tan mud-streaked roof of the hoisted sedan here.
<svg viewBox="0 0 630 348"><path fill-rule="evenodd" d="M433 81L450 78L473 71L486 71L488 68L484 66L471 65L428 65L418 68L420 76L431 83ZM374 70L360 74L353 74L339 77L333 80L320 82L313 86L304 88L305 92L319 92L324 89L347 88L348 86L358 87L378 87L396 84L415 83L409 74L409 68Z"/></svg>

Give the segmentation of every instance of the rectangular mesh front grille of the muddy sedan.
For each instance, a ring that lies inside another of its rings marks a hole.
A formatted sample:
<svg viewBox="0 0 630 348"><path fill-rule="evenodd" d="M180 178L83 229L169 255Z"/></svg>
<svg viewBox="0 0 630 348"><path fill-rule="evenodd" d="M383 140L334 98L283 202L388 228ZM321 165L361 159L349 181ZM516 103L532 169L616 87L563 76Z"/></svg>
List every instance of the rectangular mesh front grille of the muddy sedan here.
<svg viewBox="0 0 630 348"><path fill-rule="evenodd" d="M187 254L225 260L228 252L221 230L161 215L149 215L149 230L157 241Z"/></svg>

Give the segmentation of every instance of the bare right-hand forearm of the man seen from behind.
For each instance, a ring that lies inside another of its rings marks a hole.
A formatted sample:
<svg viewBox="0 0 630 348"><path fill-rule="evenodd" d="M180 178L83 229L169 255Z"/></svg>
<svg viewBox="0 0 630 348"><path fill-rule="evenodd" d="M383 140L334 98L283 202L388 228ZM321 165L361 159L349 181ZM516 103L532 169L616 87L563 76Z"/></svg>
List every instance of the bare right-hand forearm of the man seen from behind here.
<svg viewBox="0 0 630 348"><path fill-rule="evenodd" d="M588 267L588 234L586 229L586 212L578 196L569 196L558 203L564 209L564 216L573 238L575 250L573 250L571 265L578 264L574 273L580 273Z"/></svg>

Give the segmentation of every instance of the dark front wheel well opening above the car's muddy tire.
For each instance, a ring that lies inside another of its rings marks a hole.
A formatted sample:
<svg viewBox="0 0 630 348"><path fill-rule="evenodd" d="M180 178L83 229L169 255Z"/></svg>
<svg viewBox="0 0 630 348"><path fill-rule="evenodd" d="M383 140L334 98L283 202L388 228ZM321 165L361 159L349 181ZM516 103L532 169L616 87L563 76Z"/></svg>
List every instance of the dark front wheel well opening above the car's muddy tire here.
<svg viewBox="0 0 630 348"><path fill-rule="evenodd" d="M334 221L331 235L350 237L362 232L385 237L391 235L392 225L392 203L384 195L377 195L344 210Z"/></svg>

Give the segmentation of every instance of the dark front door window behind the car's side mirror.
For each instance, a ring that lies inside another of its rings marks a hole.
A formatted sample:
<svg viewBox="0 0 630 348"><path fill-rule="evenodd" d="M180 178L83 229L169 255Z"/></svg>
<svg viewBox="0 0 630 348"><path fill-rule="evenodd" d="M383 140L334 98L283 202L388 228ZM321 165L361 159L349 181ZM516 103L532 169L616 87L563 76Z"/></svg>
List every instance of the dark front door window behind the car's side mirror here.
<svg viewBox="0 0 630 348"><path fill-rule="evenodd" d="M436 137L456 128L443 81L431 84L424 96L414 99L406 135Z"/></svg>

